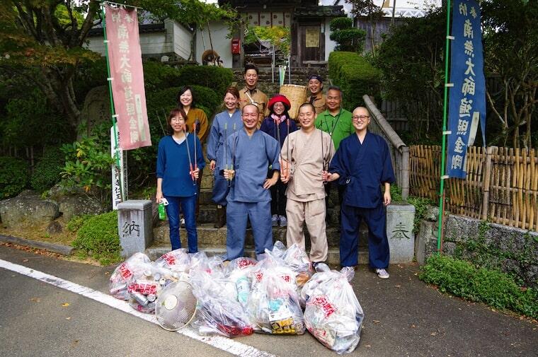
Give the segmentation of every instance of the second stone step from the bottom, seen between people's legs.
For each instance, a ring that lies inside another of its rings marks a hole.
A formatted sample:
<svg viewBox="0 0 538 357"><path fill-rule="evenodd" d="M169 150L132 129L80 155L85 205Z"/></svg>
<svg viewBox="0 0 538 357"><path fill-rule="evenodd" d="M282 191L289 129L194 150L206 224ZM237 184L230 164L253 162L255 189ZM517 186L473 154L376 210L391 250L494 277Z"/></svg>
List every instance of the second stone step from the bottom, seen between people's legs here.
<svg viewBox="0 0 538 357"><path fill-rule="evenodd" d="M201 209L200 209L201 211ZM170 243L170 230L168 229L167 221L160 221L153 229L153 239L156 244L169 244ZM213 223L198 223L198 245L200 247L224 247L226 245L227 228L214 228ZM340 232L336 227L329 227L326 229L327 242L329 247L338 248L340 242ZM308 230L304 229L304 235L306 238L307 249L310 246L310 239ZM180 228L179 236L181 244L186 247L187 244L187 231L185 228ZM286 228L285 227L273 227L273 239L286 241ZM360 228L359 246L367 247L368 231L364 224ZM253 247L254 240L252 230L246 230L245 246Z"/></svg>

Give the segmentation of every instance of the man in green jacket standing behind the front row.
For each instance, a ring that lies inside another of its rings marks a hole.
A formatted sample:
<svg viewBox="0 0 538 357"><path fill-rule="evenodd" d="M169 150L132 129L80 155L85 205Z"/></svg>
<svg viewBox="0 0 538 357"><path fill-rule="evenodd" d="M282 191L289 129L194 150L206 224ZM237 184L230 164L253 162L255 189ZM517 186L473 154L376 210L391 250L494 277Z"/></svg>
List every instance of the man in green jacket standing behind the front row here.
<svg viewBox="0 0 538 357"><path fill-rule="evenodd" d="M351 134L355 133L353 127L353 116L351 112L341 107L342 104L342 90L337 86L330 86L327 90L326 107L327 110L321 112L316 117L316 128L325 131L331 136L334 143L335 150L338 150L340 141L347 138ZM326 206L328 207L328 196L331 192L331 187L338 187L338 204L342 203L344 186L336 184L336 182L329 182L325 185L327 192ZM338 215L340 220L340 215Z"/></svg>

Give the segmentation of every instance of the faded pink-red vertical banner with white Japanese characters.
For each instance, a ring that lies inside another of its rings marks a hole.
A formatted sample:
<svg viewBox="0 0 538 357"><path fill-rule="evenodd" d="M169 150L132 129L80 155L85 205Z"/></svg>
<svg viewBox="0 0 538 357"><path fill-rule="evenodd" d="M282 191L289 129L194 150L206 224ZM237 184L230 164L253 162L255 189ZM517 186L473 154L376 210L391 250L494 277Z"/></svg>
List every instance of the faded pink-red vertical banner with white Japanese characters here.
<svg viewBox="0 0 538 357"><path fill-rule="evenodd" d="M105 6L108 62L122 150L151 146L136 10Z"/></svg>

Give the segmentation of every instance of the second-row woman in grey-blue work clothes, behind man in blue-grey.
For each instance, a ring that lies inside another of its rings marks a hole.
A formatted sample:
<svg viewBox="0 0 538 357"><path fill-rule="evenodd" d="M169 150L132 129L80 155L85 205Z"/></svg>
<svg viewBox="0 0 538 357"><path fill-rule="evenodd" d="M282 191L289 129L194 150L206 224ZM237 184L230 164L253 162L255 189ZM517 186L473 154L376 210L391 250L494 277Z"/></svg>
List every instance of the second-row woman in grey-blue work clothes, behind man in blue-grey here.
<svg viewBox="0 0 538 357"><path fill-rule="evenodd" d="M234 163L224 159L224 151L234 151L234 147L225 147L226 139L243 127L241 110L238 109L239 90L228 87L224 92L224 107L213 119L210 129L210 139L207 143L207 158L214 174L213 201L217 204L217 217L214 228L221 228L226 222L226 197L229 191L229 181L224 178L224 169L233 169ZM227 167L228 166L228 167Z"/></svg>

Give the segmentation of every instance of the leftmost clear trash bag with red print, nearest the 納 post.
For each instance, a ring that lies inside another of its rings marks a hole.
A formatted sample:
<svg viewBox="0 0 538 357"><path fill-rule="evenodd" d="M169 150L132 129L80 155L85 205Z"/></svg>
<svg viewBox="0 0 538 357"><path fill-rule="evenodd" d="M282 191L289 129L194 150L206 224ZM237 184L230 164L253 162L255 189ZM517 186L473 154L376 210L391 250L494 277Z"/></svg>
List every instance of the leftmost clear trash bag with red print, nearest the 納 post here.
<svg viewBox="0 0 538 357"><path fill-rule="evenodd" d="M130 294L127 291L127 286L135 279L138 279L144 274L144 271L150 269L151 260L144 253L132 254L125 262L122 262L109 279L110 295L120 300L129 300Z"/></svg>

